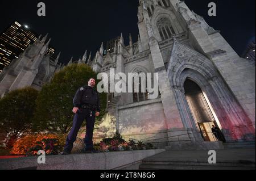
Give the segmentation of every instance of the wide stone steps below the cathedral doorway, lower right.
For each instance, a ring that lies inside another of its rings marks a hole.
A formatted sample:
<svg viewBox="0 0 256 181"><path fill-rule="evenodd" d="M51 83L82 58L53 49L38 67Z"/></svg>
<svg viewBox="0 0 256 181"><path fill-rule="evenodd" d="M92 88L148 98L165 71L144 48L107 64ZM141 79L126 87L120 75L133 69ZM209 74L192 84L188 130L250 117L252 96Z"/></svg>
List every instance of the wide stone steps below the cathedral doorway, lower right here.
<svg viewBox="0 0 256 181"><path fill-rule="evenodd" d="M166 151L145 158L140 170L255 170L255 149L216 150L216 164L207 150Z"/></svg>

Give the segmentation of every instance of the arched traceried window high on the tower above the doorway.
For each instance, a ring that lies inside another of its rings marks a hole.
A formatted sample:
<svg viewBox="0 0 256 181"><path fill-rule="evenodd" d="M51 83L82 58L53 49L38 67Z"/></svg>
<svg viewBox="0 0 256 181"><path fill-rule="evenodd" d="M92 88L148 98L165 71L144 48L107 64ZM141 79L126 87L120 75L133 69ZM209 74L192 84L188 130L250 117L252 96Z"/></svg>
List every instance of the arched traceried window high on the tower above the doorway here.
<svg viewBox="0 0 256 181"><path fill-rule="evenodd" d="M162 40L169 39L172 35L175 35L174 28L171 26L171 22L168 18L160 18L156 23L159 34Z"/></svg>

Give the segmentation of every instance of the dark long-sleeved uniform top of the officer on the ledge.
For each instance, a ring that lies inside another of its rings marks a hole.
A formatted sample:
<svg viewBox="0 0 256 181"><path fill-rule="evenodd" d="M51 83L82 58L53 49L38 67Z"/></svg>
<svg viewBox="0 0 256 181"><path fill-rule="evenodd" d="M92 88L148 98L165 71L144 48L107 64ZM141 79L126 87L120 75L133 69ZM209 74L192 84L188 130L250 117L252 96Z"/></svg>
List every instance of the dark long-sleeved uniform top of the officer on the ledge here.
<svg viewBox="0 0 256 181"><path fill-rule="evenodd" d="M73 99L74 107L81 107L82 104L96 106L96 111L100 112L99 93L90 86L80 87Z"/></svg>

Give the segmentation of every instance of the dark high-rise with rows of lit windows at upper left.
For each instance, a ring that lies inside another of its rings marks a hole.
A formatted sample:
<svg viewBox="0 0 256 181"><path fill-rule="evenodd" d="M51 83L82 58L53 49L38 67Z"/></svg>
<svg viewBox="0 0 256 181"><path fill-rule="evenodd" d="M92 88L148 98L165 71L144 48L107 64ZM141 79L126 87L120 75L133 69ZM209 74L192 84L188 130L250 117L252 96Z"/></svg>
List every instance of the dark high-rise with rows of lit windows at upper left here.
<svg viewBox="0 0 256 181"><path fill-rule="evenodd" d="M0 35L0 73L8 66L12 60L19 57L19 54L31 44L33 44L38 35L29 30L17 21L11 24ZM51 60L54 60L55 49L49 46L46 54L49 54Z"/></svg>

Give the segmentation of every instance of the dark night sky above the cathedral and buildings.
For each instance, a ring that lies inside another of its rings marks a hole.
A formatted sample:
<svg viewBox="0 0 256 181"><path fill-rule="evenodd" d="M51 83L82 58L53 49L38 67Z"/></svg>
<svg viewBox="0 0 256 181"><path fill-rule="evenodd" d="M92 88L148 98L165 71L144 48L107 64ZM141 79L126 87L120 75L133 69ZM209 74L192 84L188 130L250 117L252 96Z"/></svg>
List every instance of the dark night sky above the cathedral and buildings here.
<svg viewBox="0 0 256 181"><path fill-rule="evenodd" d="M46 16L37 15L38 3L46 3ZM208 16L208 3L216 2L217 16ZM207 23L222 36L240 55L247 42L255 37L255 0L186 0L188 7L204 16ZM129 33L137 41L138 0L0 0L0 32L14 20L27 24L31 30L52 38L51 45L61 51L61 62L73 56L78 60L86 49L94 57L101 42L123 33L129 44ZM106 48L106 47L105 47ZM88 54L89 56L89 54Z"/></svg>

